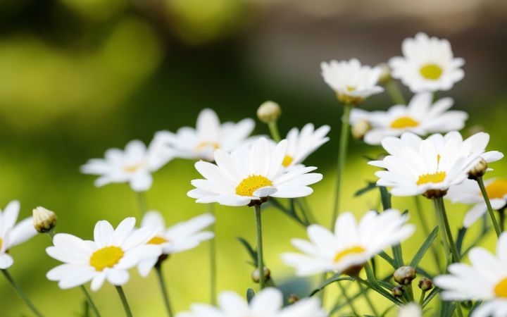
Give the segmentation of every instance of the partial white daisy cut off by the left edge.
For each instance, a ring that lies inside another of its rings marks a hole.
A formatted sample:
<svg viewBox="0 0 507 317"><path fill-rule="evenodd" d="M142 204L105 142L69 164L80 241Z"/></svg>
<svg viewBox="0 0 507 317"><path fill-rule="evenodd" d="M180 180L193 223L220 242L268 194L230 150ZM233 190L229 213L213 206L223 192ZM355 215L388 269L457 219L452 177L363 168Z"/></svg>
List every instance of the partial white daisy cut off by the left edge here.
<svg viewBox="0 0 507 317"><path fill-rule="evenodd" d="M37 235L32 217L25 218L16 225L19 211L20 203L17 200L8 203L4 212L0 211L0 269L2 270L14 263L8 250Z"/></svg>

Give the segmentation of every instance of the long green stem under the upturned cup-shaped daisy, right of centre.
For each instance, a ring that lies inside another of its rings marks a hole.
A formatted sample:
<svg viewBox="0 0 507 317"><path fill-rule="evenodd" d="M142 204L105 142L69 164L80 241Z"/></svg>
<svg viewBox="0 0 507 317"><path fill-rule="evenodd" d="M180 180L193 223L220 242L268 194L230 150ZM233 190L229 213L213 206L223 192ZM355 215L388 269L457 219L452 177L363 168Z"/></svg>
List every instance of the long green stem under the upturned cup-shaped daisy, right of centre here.
<svg viewBox="0 0 507 317"><path fill-rule="evenodd" d="M346 160L347 147L349 145L349 125L350 125L350 111L352 106L344 105L344 114L342 120L342 131L340 132L340 144L338 150L338 161L337 161L337 180L336 180L336 192L334 192L334 204L332 209L332 218L330 228L334 227L334 221L338 216L339 202L340 202L340 189L342 187L342 177L344 171L344 165Z"/></svg>

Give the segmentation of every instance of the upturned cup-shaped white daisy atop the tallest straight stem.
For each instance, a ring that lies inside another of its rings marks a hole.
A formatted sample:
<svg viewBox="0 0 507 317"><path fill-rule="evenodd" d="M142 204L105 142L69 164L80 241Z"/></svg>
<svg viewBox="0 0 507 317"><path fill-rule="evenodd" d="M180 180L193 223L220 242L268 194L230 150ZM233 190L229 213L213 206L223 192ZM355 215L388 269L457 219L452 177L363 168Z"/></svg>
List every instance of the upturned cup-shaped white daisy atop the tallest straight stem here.
<svg viewBox="0 0 507 317"><path fill-rule="evenodd" d="M361 66L356 58L350 61L330 61L320 63L324 81L344 104L359 104L372 94L383 92L377 86L382 70L370 66Z"/></svg>

